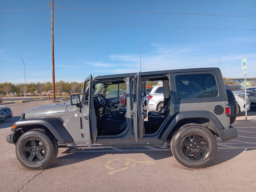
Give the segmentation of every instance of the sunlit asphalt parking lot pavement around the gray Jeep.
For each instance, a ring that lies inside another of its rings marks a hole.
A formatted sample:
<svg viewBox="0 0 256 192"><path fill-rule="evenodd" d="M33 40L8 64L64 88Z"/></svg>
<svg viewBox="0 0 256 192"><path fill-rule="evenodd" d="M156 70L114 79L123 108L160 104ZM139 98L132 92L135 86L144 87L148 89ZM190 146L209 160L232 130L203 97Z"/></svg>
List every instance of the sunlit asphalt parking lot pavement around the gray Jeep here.
<svg viewBox="0 0 256 192"><path fill-rule="evenodd" d="M51 168L29 170L6 142L12 124L23 111L48 105L44 101L5 105L13 119L0 122L0 191L255 191L256 111L241 113L233 124L238 137L221 142L211 167L188 169L170 149L59 148Z"/></svg>

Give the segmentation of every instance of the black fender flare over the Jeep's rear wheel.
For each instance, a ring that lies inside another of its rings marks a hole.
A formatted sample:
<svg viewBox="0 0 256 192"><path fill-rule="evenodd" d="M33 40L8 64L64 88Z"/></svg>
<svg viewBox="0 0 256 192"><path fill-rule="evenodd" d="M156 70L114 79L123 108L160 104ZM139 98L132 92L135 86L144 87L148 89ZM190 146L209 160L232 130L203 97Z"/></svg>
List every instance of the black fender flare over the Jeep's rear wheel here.
<svg viewBox="0 0 256 192"><path fill-rule="evenodd" d="M179 112L174 116L168 116L167 117L167 121L165 124L163 124L164 127L166 127L165 129L163 129L163 133L160 135L159 139L166 141L167 137L169 136L169 134L172 132L173 128L175 127L175 125L182 119L187 119L187 118L208 118L210 120L211 124L211 130L218 134L220 136L220 129L224 129L224 127L221 125L220 121L218 120L218 118L213 115L211 112L209 111L184 111L184 112ZM169 121L168 121L169 118ZM168 123L170 122L170 123Z"/></svg>

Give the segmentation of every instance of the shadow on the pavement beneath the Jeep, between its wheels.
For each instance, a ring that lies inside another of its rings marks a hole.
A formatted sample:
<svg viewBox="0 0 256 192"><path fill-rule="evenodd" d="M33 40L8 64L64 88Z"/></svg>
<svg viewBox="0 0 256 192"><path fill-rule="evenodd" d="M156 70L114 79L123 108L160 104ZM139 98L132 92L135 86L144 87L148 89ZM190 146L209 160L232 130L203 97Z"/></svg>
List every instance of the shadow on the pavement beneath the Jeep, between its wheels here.
<svg viewBox="0 0 256 192"><path fill-rule="evenodd" d="M91 150L91 149L86 149L86 150ZM147 156L151 157L154 160L159 160L159 159L164 159L172 156L171 151L139 151L139 152L75 152L75 153L69 153L70 149L67 149L64 151L62 154L65 154L63 156L60 156L55 159L53 165L51 168L55 167L61 167L65 165L70 165L70 164L76 164L82 161L87 161L91 160L93 158L97 158L106 154L135 154L135 153L144 153Z"/></svg>

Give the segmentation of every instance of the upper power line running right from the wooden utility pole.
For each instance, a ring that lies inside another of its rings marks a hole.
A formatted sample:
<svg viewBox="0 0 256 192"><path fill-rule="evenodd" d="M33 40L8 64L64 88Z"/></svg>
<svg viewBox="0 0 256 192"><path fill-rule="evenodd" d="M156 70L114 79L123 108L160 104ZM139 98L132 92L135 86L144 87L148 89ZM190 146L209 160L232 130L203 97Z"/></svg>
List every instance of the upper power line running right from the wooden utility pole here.
<svg viewBox="0 0 256 192"><path fill-rule="evenodd" d="M203 16L219 16L219 17L251 17L251 18L256 18L256 15L236 15L236 14L176 13L176 12L154 12L154 11L124 11L124 10L85 9L85 8L68 8L68 7L60 7L60 9L83 10L83 11L132 12L132 13L154 13L154 14L173 14L173 15L203 15Z"/></svg>

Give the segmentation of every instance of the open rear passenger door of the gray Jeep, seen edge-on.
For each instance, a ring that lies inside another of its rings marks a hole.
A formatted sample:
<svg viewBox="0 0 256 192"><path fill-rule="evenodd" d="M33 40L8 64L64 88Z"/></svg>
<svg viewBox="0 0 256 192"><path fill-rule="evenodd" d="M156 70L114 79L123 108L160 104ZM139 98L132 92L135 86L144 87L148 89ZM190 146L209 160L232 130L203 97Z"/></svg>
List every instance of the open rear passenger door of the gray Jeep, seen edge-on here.
<svg viewBox="0 0 256 192"><path fill-rule="evenodd" d="M140 72L134 76L133 86L132 86L132 120L133 129L136 142L142 138L145 134L144 131L144 114L143 114L143 104L142 95L140 91Z"/></svg>

